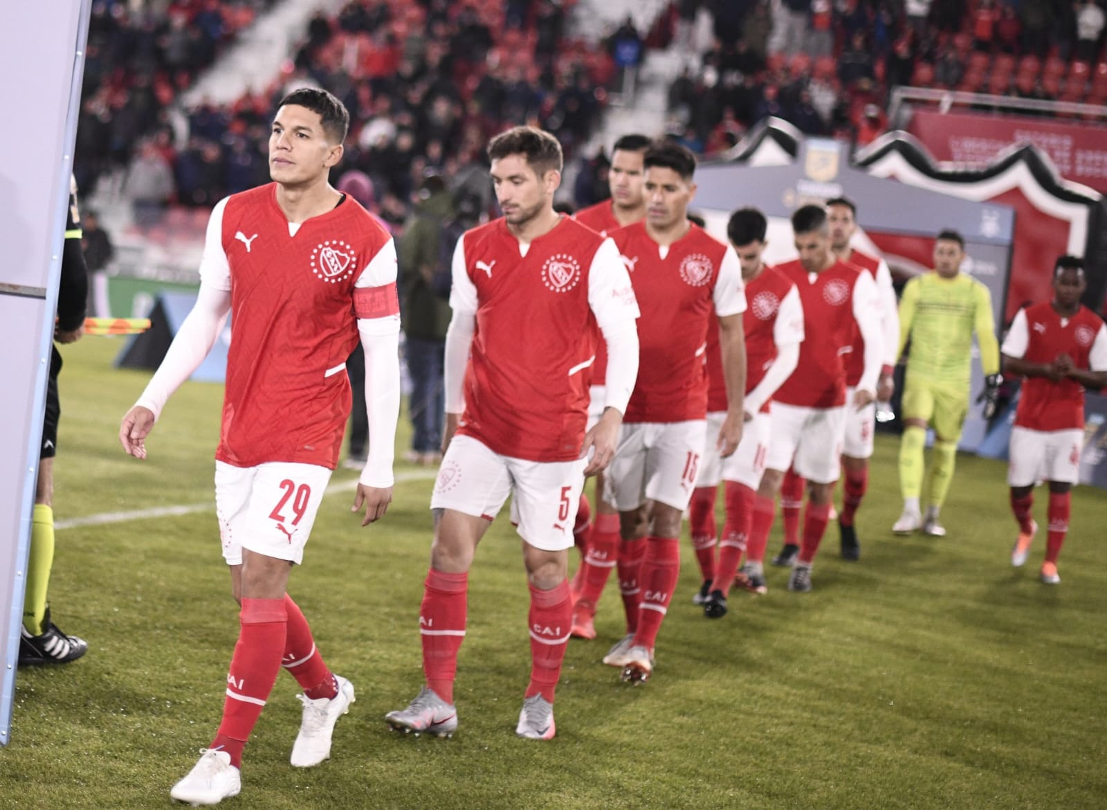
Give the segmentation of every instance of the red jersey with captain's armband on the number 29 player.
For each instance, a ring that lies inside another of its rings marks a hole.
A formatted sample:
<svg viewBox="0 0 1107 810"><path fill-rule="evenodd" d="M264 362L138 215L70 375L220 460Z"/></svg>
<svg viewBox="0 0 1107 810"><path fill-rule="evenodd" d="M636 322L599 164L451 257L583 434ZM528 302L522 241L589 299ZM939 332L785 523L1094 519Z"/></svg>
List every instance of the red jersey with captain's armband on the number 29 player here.
<svg viewBox="0 0 1107 810"><path fill-rule="evenodd" d="M372 293L381 299L376 315L397 316L395 252L387 232L349 196L291 236L276 192L269 183L234 194L213 213L221 214L234 312L216 459L333 470L350 416L355 285L386 260L392 281ZM206 250L213 248L209 242ZM227 279L208 280L226 289ZM363 287L358 295L370 291Z"/></svg>

